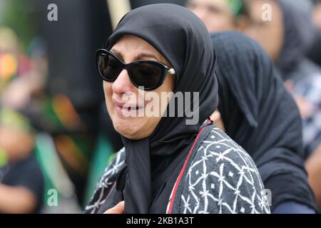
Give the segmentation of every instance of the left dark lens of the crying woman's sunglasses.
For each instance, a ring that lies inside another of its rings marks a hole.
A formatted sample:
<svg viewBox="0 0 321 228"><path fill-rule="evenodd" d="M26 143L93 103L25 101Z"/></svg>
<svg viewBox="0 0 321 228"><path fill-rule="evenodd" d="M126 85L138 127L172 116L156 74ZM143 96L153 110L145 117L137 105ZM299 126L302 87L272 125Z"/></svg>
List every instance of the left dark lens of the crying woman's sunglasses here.
<svg viewBox="0 0 321 228"><path fill-rule="evenodd" d="M105 81L115 81L123 71L122 64L110 53L101 53L97 57L97 68L99 74Z"/></svg>

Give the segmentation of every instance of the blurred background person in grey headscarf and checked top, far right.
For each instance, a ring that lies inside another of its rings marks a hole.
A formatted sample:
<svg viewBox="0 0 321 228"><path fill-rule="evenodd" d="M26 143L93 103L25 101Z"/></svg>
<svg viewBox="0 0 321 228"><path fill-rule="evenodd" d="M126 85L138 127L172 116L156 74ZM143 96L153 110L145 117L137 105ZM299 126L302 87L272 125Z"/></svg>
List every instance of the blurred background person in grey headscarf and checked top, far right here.
<svg viewBox="0 0 321 228"><path fill-rule="evenodd" d="M305 157L309 159L321 142L321 69L305 57L314 38L311 1L248 0L245 3L249 22L243 32L265 48L295 98L302 118ZM270 4L272 21L263 21L258 13L262 12L263 4ZM311 182L310 185L316 186ZM313 191L320 202L320 194L314 188Z"/></svg>

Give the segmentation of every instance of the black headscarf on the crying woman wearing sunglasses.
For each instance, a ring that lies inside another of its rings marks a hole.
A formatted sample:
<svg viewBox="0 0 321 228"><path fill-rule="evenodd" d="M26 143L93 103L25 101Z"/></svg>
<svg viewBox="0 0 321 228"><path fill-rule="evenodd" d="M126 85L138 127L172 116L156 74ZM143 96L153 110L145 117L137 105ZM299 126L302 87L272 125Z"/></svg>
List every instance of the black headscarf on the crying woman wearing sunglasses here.
<svg viewBox="0 0 321 228"><path fill-rule="evenodd" d="M203 22L188 9L174 4L152 4L130 11L108 38L108 49L126 34L143 38L175 68L174 93L201 91L199 110L194 109L200 115L196 125L186 125L184 113L181 118L161 118L148 138L123 137L127 163L125 212L165 213L175 182L175 177L168 180L168 176L179 168L200 125L218 104L215 51ZM189 105L196 105L193 98L185 100L185 108ZM176 110L177 107L175 104Z"/></svg>

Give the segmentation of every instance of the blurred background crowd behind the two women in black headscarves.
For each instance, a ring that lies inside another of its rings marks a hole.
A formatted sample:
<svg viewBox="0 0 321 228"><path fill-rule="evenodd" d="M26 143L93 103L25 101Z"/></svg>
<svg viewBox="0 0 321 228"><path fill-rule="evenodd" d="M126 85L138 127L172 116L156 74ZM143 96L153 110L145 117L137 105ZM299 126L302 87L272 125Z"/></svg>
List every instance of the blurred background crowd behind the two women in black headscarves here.
<svg viewBox="0 0 321 228"><path fill-rule="evenodd" d="M293 1L128 2L180 4L208 31L240 31L263 46L300 110L320 208L321 1ZM93 60L113 31L108 1L57 0L58 21L47 19L49 4L0 0L0 213L82 212L123 147Z"/></svg>

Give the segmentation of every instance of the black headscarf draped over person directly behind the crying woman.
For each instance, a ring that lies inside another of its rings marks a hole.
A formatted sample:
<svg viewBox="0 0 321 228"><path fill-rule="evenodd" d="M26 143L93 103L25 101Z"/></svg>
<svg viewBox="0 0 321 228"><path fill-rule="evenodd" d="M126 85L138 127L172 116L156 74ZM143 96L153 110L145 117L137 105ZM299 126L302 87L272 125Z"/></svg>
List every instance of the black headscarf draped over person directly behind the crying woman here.
<svg viewBox="0 0 321 228"><path fill-rule="evenodd" d="M218 110L226 133L253 157L265 189L272 191L272 209L285 201L315 208L300 114L272 61L240 33L213 33L212 39L218 55Z"/></svg>

